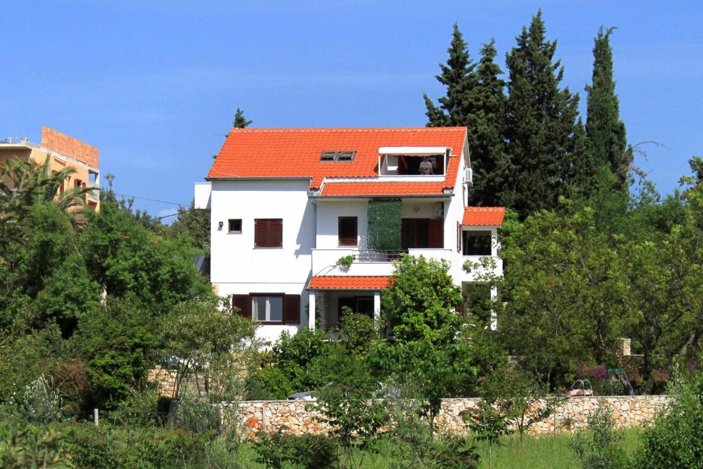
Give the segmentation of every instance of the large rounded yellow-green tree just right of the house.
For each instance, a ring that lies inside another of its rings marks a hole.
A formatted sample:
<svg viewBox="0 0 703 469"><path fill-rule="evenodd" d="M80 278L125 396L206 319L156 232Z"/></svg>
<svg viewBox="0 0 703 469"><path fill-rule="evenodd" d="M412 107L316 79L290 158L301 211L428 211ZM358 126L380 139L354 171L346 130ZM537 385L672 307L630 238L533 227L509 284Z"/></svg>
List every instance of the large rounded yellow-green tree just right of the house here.
<svg viewBox="0 0 703 469"><path fill-rule="evenodd" d="M511 226L501 250L510 268L486 278L500 293L494 308L503 343L542 385L576 364L612 361L627 317L621 257L595 229L593 212L537 212Z"/></svg>

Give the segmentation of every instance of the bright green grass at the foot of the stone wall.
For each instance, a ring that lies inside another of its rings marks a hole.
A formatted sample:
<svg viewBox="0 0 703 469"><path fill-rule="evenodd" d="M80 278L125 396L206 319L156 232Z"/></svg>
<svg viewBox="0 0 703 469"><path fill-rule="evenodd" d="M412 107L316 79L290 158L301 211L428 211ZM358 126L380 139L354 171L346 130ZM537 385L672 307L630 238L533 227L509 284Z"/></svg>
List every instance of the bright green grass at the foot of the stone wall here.
<svg viewBox="0 0 703 469"><path fill-rule="evenodd" d="M640 430L623 431L624 449L631 454L638 446ZM493 449L493 467L496 469L572 469L579 468L578 459L569 449L569 435L551 437L525 437L521 443L517 436L504 437L499 446ZM488 467L488 445L476 442L481 455L481 468ZM396 468L393 456L393 444L382 439L378 444L378 453L366 454L363 458L363 468L392 469ZM256 451L249 444L242 444L238 451L237 462L246 468L265 469L255 463Z"/></svg>

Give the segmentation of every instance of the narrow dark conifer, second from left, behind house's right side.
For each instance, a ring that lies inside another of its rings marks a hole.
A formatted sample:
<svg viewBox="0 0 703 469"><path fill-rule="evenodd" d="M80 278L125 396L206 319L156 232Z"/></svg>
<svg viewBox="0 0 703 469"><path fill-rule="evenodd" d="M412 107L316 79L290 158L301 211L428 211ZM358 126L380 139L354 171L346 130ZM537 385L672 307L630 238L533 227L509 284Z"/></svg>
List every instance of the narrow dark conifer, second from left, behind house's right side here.
<svg viewBox="0 0 703 469"><path fill-rule="evenodd" d="M469 152L474 169L470 203L501 205L499 193L506 182L505 166L505 82L500 75L495 41L484 44L476 70L477 84L470 99L467 119Z"/></svg>

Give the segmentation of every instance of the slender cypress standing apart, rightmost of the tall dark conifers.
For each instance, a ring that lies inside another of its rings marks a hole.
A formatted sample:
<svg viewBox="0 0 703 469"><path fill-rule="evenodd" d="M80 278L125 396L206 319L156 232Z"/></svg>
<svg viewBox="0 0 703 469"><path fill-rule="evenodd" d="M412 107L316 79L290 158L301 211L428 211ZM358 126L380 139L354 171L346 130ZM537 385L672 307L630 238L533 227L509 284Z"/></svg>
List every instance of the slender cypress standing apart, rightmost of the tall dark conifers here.
<svg viewBox="0 0 703 469"><path fill-rule="evenodd" d="M588 113L586 136L595 162L607 165L617 176L617 188L627 191L628 171L633 160L627 148L625 124L620 120L620 108L613 79L613 54L610 34L615 30L601 26L593 44L593 83L586 86Z"/></svg>

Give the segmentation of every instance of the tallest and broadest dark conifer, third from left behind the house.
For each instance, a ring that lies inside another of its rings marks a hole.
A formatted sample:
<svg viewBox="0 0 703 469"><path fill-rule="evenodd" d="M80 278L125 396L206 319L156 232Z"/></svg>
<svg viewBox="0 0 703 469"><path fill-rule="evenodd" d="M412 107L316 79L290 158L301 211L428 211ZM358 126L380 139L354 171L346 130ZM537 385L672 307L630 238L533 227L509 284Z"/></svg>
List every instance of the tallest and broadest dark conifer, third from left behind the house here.
<svg viewBox="0 0 703 469"><path fill-rule="evenodd" d="M508 162L501 200L521 217L557 207L572 176L572 162L586 158L576 145L579 95L560 89L564 69L553 62L557 42L547 41L542 12L522 28L506 57L508 101L505 115ZM576 136L574 136L576 134ZM579 152L579 153L576 153Z"/></svg>

